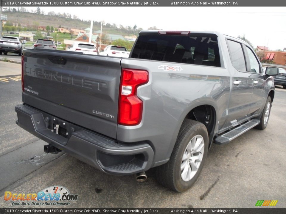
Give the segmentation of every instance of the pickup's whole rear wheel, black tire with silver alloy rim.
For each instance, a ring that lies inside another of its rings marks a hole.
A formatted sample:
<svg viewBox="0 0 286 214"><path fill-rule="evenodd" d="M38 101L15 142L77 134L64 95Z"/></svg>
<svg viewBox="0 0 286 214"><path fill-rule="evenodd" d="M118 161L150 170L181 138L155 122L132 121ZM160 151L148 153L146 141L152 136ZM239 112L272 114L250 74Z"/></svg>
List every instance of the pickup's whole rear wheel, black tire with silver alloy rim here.
<svg viewBox="0 0 286 214"><path fill-rule="evenodd" d="M189 189L203 168L208 145L209 137L206 127L200 122L185 119L170 160L157 167L158 181L176 192Z"/></svg>

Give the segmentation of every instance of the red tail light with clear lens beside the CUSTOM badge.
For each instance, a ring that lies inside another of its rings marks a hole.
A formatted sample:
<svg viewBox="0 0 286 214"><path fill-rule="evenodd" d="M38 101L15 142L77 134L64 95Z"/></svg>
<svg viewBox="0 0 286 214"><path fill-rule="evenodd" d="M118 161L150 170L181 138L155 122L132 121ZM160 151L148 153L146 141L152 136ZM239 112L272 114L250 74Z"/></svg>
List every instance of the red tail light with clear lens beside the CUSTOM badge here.
<svg viewBox="0 0 286 214"><path fill-rule="evenodd" d="M121 125L138 125L142 119L143 102L137 97L137 88L149 81L146 70L122 68L118 123Z"/></svg>

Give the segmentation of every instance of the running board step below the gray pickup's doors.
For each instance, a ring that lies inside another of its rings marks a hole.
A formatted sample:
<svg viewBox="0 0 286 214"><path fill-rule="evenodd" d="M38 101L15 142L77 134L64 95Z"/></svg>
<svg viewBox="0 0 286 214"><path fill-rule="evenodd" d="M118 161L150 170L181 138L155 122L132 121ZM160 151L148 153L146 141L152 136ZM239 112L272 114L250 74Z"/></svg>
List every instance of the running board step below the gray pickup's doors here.
<svg viewBox="0 0 286 214"><path fill-rule="evenodd" d="M237 138L238 136L242 135L243 133L247 132L249 129L253 128L254 126L257 126L259 124L260 120L258 119L252 119L251 121L238 126L237 128L218 136L214 143L215 144L227 144L233 139Z"/></svg>

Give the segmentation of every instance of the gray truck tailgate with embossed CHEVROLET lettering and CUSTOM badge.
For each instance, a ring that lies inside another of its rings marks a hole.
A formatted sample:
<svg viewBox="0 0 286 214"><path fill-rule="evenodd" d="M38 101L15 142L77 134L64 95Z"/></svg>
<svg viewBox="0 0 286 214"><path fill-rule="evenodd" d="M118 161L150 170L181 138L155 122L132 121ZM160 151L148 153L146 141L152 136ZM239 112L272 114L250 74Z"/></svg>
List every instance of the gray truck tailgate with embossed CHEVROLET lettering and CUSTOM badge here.
<svg viewBox="0 0 286 214"><path fill-rule="evenodd" d="M116 138L120 58L23 52L25 104Z"/></svg>

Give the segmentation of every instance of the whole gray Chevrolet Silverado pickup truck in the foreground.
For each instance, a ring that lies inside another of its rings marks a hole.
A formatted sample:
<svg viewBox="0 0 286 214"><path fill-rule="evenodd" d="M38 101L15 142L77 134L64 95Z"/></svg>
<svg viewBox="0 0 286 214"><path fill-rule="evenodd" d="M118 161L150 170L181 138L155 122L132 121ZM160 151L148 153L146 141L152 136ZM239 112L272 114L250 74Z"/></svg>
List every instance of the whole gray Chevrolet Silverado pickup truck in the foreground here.
<svg viewBox="0 0 286 214"><path fill-rule="evenodd" d="M198 178L212 143L265 129L274 98L277 73L217 32L140 32L129 58L23 53L16 123L48 142L45 152L114 175L156 167L177 192Z"/></svg>

